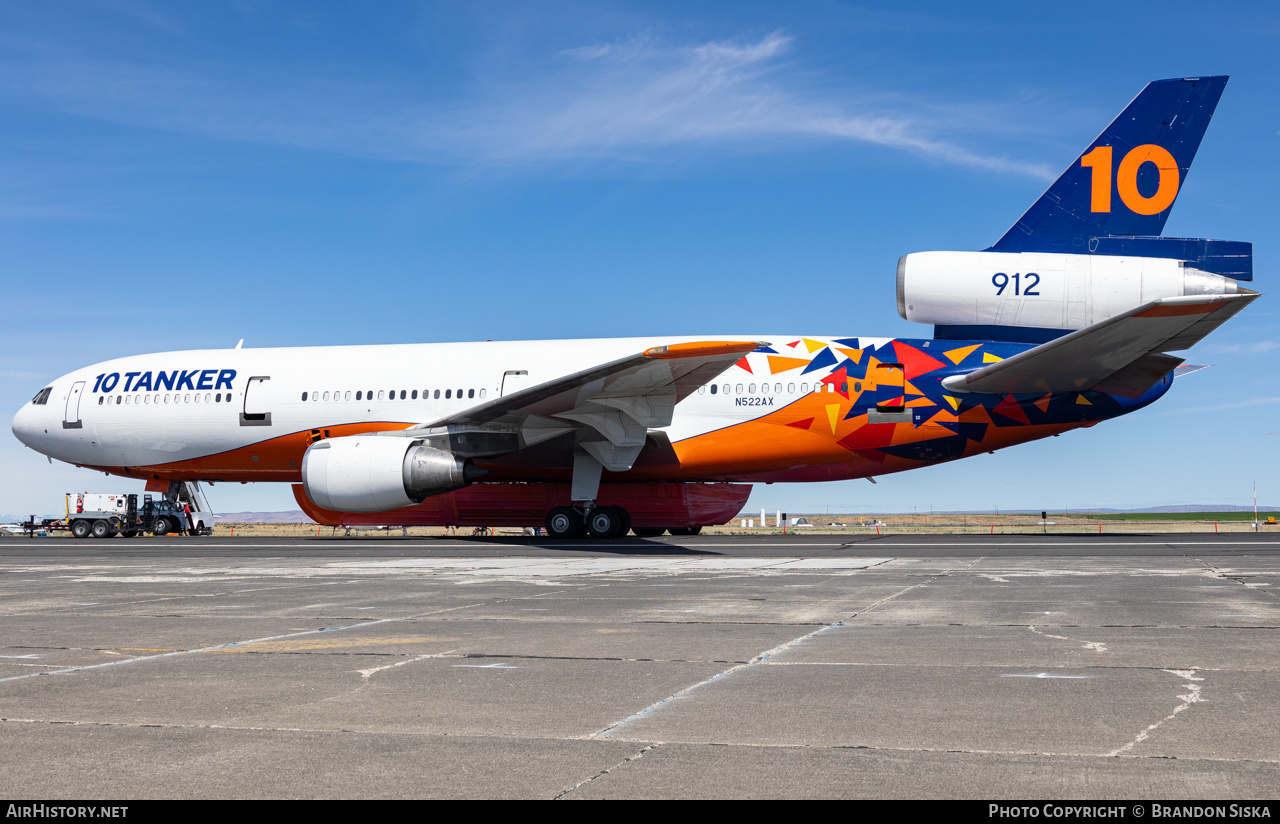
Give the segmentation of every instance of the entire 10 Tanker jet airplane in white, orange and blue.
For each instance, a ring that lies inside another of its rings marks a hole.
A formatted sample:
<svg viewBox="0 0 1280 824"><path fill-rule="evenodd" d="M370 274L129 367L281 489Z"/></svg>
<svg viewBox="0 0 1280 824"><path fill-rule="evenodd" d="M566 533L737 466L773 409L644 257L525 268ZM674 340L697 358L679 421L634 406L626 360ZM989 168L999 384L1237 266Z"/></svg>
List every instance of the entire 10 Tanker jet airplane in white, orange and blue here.
<svg viewBox="0 0 1280 824"><path fill-rule="evenodd" d="M42 388L14 435L140 479L278 481L333 526L698 532L751 484L872 479L1153 403L1258 297L1251 243L1161 237L1226 77L1155 81L983 251L897 264L931 338L750 334L204 349Z"/></svg>

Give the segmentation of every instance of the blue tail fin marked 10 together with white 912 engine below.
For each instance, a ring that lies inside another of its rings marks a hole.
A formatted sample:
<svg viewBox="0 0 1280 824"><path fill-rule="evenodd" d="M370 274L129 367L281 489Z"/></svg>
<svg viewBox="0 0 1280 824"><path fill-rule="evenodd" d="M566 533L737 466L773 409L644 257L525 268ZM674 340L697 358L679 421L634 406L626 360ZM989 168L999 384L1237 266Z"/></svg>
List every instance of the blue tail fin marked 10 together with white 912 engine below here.
<svg viewBox="0 0 1280 824"><path fill-rule="evenodd" d="M1253 294L1251 243L1158 237L1225 84L1148 83L995 246L899 260L899 315L1043 343L1162 298Z"/></svg>

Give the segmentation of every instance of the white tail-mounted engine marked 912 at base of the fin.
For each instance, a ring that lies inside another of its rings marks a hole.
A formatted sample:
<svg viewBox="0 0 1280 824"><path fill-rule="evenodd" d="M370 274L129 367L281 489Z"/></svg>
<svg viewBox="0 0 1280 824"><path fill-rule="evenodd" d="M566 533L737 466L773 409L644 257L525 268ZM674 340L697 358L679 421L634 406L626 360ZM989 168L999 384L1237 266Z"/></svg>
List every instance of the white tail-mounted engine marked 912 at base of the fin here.
<svg viewBox="0 0 1280 824"><path fill-rule="evenodd" d="M1167 257L916 252L897 261L897 313L941 326L1084 329L1157 298L1235 294Z"/></svg>

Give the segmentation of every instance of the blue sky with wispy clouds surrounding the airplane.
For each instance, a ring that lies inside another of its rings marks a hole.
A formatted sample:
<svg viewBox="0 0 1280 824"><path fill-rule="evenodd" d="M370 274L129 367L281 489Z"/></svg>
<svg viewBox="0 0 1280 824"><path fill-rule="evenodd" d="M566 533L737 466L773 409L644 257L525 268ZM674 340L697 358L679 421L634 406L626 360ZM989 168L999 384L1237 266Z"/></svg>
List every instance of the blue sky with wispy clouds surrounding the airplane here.
<svg viewBox="0 0 1280 824"><path fill-rule="evenodd" d="M900 255L989 246L1151 79L1231 74L1166 234L1254 243L1274 4L0 5L0 408L150 351L928 337ZM371 12L371 9L374 12ZM1280 308L1156 406L792 512L1280 500ZM0 513L131 482L6 435ZM292 509L284 485L214 490Z"/></svg>

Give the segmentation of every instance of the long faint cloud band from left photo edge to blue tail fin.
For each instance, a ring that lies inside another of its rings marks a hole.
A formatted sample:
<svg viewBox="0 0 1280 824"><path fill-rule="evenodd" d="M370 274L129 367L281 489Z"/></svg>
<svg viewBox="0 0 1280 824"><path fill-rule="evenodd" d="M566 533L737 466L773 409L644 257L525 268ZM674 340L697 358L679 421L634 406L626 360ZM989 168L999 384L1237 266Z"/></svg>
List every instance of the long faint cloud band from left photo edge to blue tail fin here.
<svg viewBox="0 0 1280 824"><path fill-rule="evenodd" d="M142 63L12 38L0 46L0 95L10 99L131 125L360 156L662 161L680 148L778 151L836 141L1014 175L1053 173L940 137L963 119L963 106L814 82L782 33L585 45L550 55L549 68L540 55L536 70L511 67L452 95L333 67Z"/></svg>

